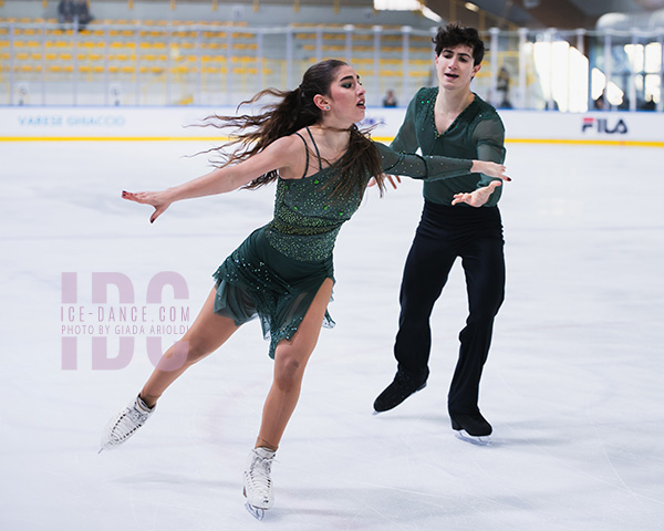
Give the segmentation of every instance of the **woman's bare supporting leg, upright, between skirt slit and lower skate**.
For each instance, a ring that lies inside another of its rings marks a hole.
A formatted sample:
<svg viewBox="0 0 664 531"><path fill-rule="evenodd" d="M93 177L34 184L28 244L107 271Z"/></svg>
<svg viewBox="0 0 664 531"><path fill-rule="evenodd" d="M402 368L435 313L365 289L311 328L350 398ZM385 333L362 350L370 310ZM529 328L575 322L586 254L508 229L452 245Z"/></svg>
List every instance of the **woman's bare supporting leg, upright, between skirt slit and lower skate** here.
<svg viewBox="0 0 664 531"><path fill-rule="evenodd" d="M332 279L325 279L298 331L290 341L281 341L274 353L274 377L263 406L256 447L277 449L295 409L307 362L313 352L332 295Z"/></svg>

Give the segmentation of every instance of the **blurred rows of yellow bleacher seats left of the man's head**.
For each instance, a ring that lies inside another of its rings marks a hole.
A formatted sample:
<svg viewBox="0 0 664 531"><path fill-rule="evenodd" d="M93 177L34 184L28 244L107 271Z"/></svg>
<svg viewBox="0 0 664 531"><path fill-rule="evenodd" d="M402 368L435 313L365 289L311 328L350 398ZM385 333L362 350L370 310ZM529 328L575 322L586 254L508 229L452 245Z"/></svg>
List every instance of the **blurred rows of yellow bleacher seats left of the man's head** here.
<svg viewBox="0 0 664 531"><path fill-rule="evenodd" d="M406 33L401 25L133 19L96 19L76 31L52 18L0 18L0 104L15 104L17 87L19 104L235 104L266 86L292 86L328 58L351 62L373 83L377 104L387 88L430 80L430 32Z"/></svg>

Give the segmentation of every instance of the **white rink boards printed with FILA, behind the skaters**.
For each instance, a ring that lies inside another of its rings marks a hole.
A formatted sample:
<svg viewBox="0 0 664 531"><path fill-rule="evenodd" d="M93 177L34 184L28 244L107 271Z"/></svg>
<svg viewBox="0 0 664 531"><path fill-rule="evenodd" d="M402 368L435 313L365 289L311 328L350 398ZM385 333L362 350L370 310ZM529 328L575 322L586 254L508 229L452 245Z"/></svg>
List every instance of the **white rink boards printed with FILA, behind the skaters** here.
<svg viewBox="0 0 664 531"><path fill-rule="evenodd" d="M212 127L185 127L235 107L0 107L0 142L20 139L199 139L219 140ZM366 125L390 142L404 108L370 107ZM509 142L636 144L664 147L662 113L501 111Z"/></svg>

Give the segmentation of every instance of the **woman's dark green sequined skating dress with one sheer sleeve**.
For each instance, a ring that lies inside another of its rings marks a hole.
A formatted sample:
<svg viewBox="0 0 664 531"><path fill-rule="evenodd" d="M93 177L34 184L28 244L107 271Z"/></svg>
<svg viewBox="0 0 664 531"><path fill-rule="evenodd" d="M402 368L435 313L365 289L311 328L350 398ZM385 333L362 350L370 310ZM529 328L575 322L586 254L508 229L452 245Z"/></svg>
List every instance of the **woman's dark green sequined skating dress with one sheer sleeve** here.
<svg viewBox="0 0 664 531"><path fill-rule="evenodd" d="M340 163L301 179L277 180L274 218L255 230L217 269L215 313L230 317L237 325L259 317L263 336L270 340L269 355L281 340L298 331L309 305L325 279L334 280L332 251L341 226L360 206L370 175L357 183L343 199L330 197ZM298 133L295 133L298 134ZM304 142L307 142L298 134ZM438 180L470 173L471 160L421 157L393 152L376 143L385 174ZM309 150L307 149L307 168ZM323 326L334 321L328 312Z"/></svg>

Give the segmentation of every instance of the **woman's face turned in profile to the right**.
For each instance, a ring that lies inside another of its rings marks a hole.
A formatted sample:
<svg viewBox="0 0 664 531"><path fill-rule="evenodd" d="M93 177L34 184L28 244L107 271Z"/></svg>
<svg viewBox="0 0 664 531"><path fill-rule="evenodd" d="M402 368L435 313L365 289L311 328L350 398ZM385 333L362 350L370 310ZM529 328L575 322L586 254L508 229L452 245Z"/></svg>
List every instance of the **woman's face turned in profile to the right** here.
<svg viewBox="0 0 664 531"><path fill-rule="evenodd" d="M340 122L349 122L349 126L361 122L366 112L365 93L366 91L360 84L360 76L353 67L347 64L340 66L334 72L330 95L323 106L323 115Z"/></svg>

